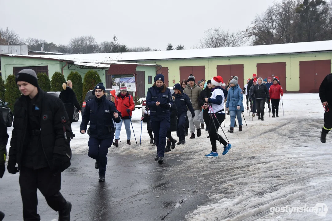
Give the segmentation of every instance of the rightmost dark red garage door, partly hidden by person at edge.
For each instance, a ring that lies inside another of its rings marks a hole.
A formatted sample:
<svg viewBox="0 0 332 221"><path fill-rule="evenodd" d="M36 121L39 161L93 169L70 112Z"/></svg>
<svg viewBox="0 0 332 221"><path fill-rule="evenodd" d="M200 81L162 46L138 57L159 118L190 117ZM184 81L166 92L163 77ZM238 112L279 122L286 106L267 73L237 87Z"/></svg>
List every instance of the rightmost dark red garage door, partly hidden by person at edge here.
<svg viewBox="0 0 332 221"><path fill-rule="evenodd" d="M300 93L318 93L325 76L331 73L331 60L300 61Z"/></svg>

